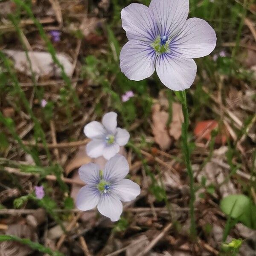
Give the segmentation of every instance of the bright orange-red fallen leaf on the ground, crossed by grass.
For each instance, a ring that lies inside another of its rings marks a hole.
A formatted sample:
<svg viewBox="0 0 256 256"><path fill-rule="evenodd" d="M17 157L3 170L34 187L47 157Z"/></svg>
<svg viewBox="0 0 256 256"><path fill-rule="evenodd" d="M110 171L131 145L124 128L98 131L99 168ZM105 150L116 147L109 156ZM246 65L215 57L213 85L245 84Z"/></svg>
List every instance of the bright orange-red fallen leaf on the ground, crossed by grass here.
<svg viewBox="0 0 256 256"><path fill-rule="evenodd" d="M211 139L211 132L218 128L218 122L215 120L206 120L198 122L194 129L194 134L198 138L203 138L206 140ZM230 137L226 127L224 127L219 134L215 137L215 143L225 144L227 142L227 137Z"/></svg>

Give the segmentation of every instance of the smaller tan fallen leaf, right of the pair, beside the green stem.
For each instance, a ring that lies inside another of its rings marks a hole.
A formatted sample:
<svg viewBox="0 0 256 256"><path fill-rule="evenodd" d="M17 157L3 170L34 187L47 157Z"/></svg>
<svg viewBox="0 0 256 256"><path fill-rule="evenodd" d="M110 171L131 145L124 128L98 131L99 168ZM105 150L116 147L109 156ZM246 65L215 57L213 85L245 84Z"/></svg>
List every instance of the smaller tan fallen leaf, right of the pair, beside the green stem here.
<svg viewBox="0 0 256 256"><path fill-rule="evenodd" d="M182 113L182 106L177 103L172 103L172 122L170 123L169 134L174 137L175 140L179 140L181 136L181 127L184 122L184 116Z"/></svg>

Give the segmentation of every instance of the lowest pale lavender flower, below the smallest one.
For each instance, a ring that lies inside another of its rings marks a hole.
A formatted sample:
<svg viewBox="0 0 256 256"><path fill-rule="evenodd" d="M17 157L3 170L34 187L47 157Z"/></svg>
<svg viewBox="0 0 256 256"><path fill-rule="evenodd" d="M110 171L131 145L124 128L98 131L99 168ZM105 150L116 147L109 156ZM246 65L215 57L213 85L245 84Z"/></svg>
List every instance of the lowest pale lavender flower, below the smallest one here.
<svg viewBox="0 0 256 256"><path fill-rule="evenodd" d="M134 200L140 194L140 186L124 177L129 172L129 164L124 156L116 154L106 163L102 171L94 163L79 169L79 175L87 185L83 186L76 198L76 206L81 211L96 207L99 212L118 221L122 213L122 202Z"/></svg>

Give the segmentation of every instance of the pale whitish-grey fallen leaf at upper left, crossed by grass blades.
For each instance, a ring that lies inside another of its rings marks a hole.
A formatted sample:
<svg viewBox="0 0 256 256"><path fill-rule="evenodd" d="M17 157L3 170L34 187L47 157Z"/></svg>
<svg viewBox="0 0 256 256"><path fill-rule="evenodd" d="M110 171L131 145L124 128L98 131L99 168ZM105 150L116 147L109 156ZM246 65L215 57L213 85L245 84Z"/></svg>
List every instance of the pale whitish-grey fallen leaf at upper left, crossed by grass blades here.
<svg viewBox="0 0 256 256"><path fill-rule="evenodd" d="M21 73L25 73L31 76L29 69L29 63L26 59L26 54L23 51L17 50L3 50L6 55L13 58L14 67ZM28 52L29 58L32 64L32 71L39 77L42 76L58 76L61 77L61 69L56 67L52 60L52 55L49 52ZM70 62L67 55L64 53L57 53L56 57L63 65L67 76L71 76L73 73L73 64Z"/></svg>

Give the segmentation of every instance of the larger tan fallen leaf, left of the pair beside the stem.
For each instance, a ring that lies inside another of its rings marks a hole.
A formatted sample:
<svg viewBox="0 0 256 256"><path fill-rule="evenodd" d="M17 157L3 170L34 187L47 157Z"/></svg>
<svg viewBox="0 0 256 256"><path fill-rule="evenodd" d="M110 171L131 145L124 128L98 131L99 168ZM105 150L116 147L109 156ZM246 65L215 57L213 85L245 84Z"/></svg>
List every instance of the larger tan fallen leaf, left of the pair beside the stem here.
<svg viewBox="0 0 256 256"><path fill-rule="evenodd" d="M162 150L170 148L172 139L169 137L166 123L169 115L166 111L160 110L159 104L154 104L152 107L152 133L154 134L155 142L160 146Z"/></svg>

